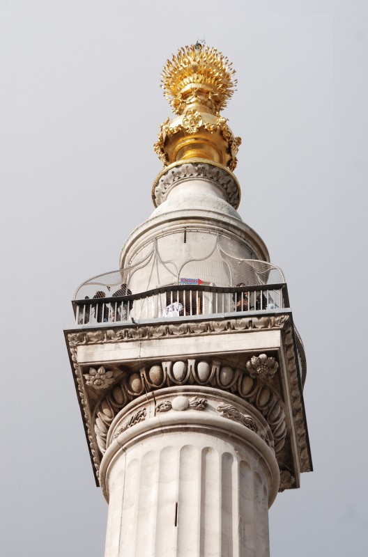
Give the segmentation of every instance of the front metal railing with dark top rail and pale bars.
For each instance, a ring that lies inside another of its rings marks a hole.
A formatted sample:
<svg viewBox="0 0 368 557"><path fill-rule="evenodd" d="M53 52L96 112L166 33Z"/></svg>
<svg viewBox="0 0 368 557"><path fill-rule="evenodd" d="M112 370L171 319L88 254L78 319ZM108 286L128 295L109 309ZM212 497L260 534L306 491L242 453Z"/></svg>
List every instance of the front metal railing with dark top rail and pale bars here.
<svg viewBox="0 0 368 557"><path fill-rule="evenodd" d="M86 297L73 301L79 325L110 324L166 317L188 317L233 312L274 311L289 308L285 283L220 288L165 286L122 297Z"/></svg>

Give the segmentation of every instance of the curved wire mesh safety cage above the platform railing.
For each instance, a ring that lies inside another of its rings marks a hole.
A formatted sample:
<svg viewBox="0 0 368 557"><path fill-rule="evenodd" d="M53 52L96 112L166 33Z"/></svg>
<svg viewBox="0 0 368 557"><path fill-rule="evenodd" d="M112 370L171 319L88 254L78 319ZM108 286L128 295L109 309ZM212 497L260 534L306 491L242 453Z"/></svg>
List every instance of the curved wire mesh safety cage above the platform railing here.
<svg viewBox="0 0 368 557"><path fill-rule="evenodd" d="M147 242L124 269L85 281L74 299L129 296L170 285L243 288L285 282L279 267L253 255L244 242L224 233L182 228Z"/></svg>

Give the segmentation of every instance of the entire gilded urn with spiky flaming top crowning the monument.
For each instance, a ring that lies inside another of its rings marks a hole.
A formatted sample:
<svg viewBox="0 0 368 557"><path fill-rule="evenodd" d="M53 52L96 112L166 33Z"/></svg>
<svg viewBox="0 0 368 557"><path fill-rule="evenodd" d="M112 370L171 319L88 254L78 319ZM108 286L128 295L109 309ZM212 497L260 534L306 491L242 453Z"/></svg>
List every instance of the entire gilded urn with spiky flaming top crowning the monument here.
<svg viewBox="0 0 368 557"><path fill-rule="evenodd" d="M236 167L241 143L220 111L227 106L237 80L229 59L213 47L181 48L162 71L162 89L178 116L160 127L155 152L164 163L208 160Z"/></svg>

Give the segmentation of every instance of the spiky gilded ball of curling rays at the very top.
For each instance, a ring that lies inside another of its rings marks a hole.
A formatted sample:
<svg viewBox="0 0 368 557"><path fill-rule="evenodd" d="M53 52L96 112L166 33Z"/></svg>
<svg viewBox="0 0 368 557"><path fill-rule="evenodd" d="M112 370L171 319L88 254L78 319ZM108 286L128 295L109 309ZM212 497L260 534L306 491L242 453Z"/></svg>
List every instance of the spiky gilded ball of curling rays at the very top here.
<svg viewBox="0 0 368 557"><path fill-rule="evenodd" d="M213 47L183 47L162 70L162 89L173 111L181 114L193 102L212 113L227 106L237 80L229 58Z"/></svg>

